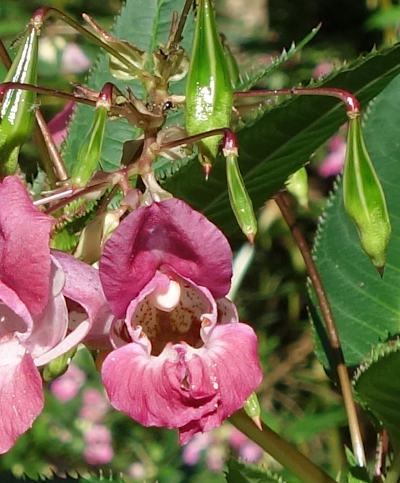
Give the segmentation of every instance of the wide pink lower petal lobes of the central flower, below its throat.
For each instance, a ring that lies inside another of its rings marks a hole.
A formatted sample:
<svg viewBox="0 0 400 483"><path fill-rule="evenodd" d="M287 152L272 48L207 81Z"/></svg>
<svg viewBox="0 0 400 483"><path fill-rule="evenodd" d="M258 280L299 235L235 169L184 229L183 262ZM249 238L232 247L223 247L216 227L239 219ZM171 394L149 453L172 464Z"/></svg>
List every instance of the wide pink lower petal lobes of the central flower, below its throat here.
<svg viewBox="0 0 400 483"><path fill-rule="evenodd" d="M116 409L145 426L179 428L183 444L241 408L262 373L255 333L235 323L215 327L200 349L169 345L154 357L128 344L107 356L102 378Z"/></svg>

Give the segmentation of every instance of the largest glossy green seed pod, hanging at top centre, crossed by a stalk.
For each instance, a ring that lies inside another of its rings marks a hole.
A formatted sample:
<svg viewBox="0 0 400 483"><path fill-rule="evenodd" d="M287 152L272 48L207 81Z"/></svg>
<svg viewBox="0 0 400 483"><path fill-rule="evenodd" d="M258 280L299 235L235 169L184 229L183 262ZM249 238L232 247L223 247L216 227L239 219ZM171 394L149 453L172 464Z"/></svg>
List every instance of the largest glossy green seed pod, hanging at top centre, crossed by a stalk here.
<svg viewBox="0 0 400 483"><path fill-rule="evenodd" d="M195 135L229 127L233 92L211 0L198 0L195 34L186 84L186 130ZM222 136L199 141L199 158L206 171L218 153Z"/></svg>

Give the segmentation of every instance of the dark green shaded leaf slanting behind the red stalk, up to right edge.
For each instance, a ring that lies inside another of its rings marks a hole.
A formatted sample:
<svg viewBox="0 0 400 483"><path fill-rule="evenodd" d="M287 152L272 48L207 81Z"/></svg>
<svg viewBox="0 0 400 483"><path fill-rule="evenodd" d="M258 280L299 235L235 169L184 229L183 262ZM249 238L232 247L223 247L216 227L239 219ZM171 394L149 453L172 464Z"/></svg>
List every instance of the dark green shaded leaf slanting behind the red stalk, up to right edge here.
<svg viewBox="0 0 400 483"><path fill-rule="evenodd" d="M332 74L321 85L350 90L365 105L400 71L399 54L399 45L372 52ZM254 208L260 208L276 193L345 120L345 110L336 100L303 96L278 105L241 129L239 165ZM189 163L165 186L203 211L226 233L237 230L222 159L217 160L207 182L198 163Z"/></svg>

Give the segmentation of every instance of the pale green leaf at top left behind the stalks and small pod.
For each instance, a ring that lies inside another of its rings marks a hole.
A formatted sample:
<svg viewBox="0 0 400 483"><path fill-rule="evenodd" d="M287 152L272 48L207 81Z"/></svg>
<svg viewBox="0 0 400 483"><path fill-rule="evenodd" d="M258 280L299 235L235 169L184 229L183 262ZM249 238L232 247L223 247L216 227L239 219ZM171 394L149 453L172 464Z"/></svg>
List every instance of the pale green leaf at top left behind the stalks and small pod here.
<svg viewBox="0 0 400 483"><path fill-rule="evenodd" d="M180 12L184 0L127 0L121 10L120 16L114 25L113 35L126 40L149 57L159 43L165 42L168 37L172 12ZM191 16L188 25L184 29L183 47L190 48L193 25ZM130 87L134 94L143 97L143 87L138 81L116 80L109 72L109 56L102 52L88 78L87 85L100 90L106 82L112 82L123 92ZM174 83L174 92L183 94L183 81ZM64 158L68 170L75 165L79 147L82 143L82 133L86 133L91 125L94 110L88 106L80 105L74 119L70 123L69 136L64 147ZM115 120L107 123L104 146L101 155L101 167L104 171L112 171L119 168L122 156L122 147L125 141L136 139L140 134L137 127L130 125L125 120Z"/></svg>

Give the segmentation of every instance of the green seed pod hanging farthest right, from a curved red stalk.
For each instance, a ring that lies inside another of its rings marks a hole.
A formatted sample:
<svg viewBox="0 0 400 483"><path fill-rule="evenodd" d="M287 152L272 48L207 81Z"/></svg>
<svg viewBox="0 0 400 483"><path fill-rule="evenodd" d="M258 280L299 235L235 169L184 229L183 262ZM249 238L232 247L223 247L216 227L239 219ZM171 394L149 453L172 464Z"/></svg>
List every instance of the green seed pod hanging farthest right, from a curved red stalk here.
<svg viewBox="0 0 400 483"><path fill-rule="evenodd" d="M343 197L362 248L382 274L391 226L385 195L365 147L358 117L349 121Z"/></svg>

